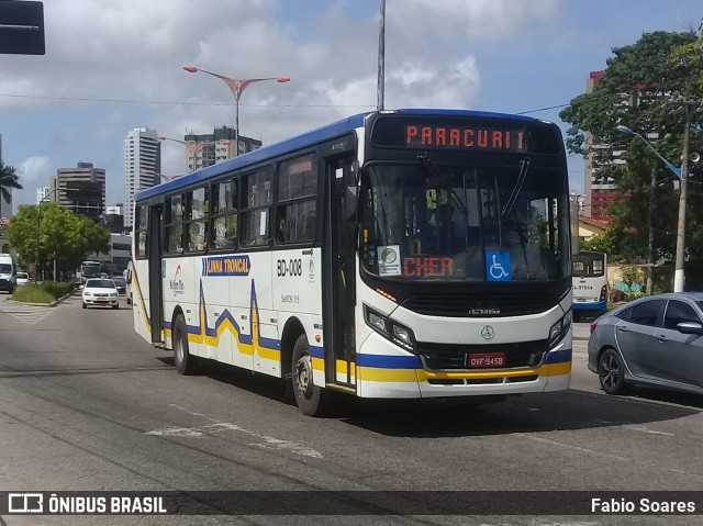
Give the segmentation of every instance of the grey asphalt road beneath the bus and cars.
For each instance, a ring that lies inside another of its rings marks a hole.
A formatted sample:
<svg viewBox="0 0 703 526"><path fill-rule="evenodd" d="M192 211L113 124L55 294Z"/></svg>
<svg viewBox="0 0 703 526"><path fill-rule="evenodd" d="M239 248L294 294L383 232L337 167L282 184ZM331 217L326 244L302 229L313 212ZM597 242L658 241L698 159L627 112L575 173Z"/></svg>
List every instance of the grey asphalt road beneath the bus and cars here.
<svg viewBox="0 0 703 526"><path fill-rule="evenodd" d="M647 390L606 396L585 366L588 324L576 327L568 392L479 410L347 402L332 417L309 418L276 382L226 367L177 374L169 354L133 333L124 302L119 311L83 311L79 296L54 309L5 300L0 294L0 491L703 490L703 398ZM596 516L13 515L2 524L615 523Z"/></svg>

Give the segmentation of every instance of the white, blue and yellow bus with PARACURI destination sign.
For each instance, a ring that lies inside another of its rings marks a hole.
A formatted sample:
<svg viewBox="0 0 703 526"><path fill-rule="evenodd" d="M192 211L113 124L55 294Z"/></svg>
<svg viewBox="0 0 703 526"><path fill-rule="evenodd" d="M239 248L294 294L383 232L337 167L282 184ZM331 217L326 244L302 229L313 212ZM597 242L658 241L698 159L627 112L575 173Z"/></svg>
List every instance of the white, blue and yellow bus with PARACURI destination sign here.
<svg viewBox="0 0 703 526"><path fill-rule="evenodd" d="M569 387L553 123L357 114L142 190L135 213L135 329L180 373L279 378L306 415L331 391L479 404Z"/></svg>

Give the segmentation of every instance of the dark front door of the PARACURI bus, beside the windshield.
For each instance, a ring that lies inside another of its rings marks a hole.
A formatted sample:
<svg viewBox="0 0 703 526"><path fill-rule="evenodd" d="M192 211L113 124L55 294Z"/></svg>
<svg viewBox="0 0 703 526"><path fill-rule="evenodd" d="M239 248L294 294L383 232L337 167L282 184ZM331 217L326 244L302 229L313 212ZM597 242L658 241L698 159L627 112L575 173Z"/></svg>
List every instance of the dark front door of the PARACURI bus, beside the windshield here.
<svg viewBox="0 0 703 526"><path fill-rule="evenodd" d="M327 159L327 221L325 222L325 374L327 383L355 388L355 216L349 216L355 188L353 159ZM349 202L347 202L349 200ZM330 331L327 328L330 327Z"/></svg>

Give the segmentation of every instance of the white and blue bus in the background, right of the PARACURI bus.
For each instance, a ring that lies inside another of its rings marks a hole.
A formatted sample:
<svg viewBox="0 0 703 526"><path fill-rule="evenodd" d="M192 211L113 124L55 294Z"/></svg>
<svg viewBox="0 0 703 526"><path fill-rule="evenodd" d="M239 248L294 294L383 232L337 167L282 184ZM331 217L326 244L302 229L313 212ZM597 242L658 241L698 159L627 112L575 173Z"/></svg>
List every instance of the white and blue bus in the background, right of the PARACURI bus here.
<svg viewBox="0 0 703 526"><path fill-rule="evenodd" d="M598 317L607 311L607 257L580 251L573 256L573 314Z"/></svg>

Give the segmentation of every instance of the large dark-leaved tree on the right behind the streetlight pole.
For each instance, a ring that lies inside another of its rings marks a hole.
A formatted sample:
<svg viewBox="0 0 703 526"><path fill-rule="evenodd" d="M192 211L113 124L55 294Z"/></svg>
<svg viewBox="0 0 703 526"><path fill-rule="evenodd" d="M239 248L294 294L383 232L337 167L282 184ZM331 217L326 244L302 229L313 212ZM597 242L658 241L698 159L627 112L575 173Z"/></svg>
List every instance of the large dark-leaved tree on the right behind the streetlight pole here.
<svg viewBox="0 0 703 526"><path fill-rule="evenodd" d="M682 46L696 42L694 32L644 34L634 45L613 48L602 80L591 93L577 97L560 116L571 124L567 148L592 153L599 177L612 179L618 199L609 210L613 219L615 251L626 258L671 257L676 243L678 191L674 175L636 136L616 130L622 124L647 136L658 133L651 144L665 158L679 164L682 152L684 103L700 74L699 63L674 63ZM692 152L701 152L703 114L694 113L691 126ZM585 132L593 137L587 143ZM596 147L594 147L596 146ZM625 164L613 163L613 154L624 152ZM695 193L695 192L692 192ZM701 189L699 189L699 193ZM698 199L696 199L698 198ZM703 255L701 195L689 200L687 225L689 254Z"/></svg>

